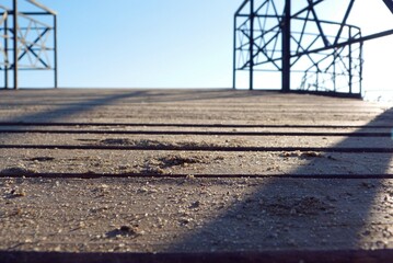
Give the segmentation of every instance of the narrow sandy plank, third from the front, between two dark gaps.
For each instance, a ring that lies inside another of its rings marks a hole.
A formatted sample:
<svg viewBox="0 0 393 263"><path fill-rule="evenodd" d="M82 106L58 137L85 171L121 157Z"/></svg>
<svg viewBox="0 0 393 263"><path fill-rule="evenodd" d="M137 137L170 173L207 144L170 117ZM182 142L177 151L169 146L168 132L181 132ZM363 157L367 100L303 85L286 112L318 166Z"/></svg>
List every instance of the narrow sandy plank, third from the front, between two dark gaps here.
<svg viewBox="0 0 393 263"><path fill-rule="evenodd" d="M19 130L20 132L20 130ZM95 130L96 132L96 130ZM28 146L50 146L51 148L82 148L82 149L177 149L177 150L220 150L233 151L235 149L248 148L251 151L268 150L268 148L287 148L290 151L292 148L303 148L303 151L320 149L320 151L328 151L332 149L354 149L354 151L361 151L367 149L393 149L393 140L391 135L383 133L380 136L372 136L373 134L366 134L359 136L332 136L330 134L321 134L320 136L310 136L307 133L282 133L280 136L273 134L271 136L242 136L241 133L229 132L228 134L220 135L218 132L212 135L209 133L189 132L129 132L130 134L113 133L103 130L94 133L90 130L82 133L74 130L57 130L57 133L43 132L43 133L21 133L21 134L1 134L0 148L4 147L23 147ZM178 134L177 134L178 133ZM197 134L194 134L197 133ZM251 134L254 134L252 132ZM314 134L311 134L314 135ZM339 134L340 135L340 134ZM348 134L351 135L351 134ZM356 134L355 134L356 135ZM32 148L30 147L30 148ZM266 149L265 149L266 148Z"/></svg>

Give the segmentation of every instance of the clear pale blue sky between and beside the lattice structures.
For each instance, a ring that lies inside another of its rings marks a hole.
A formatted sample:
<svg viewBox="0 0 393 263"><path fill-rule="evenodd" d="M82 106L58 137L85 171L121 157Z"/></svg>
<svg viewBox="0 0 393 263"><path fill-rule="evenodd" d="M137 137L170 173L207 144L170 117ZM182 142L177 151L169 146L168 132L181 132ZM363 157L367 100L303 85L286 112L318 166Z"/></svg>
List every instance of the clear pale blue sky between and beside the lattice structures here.
<svg viewBox="0 0 393 263"><path fill-rule="evenodd" d="M232 84L233 13L242 0L38 1L58 11L60 87ZM333 9L340 0L331 1ZM369 34L393 28L393 14L382 0L357 0L351 22ZM393 90L393 37L367 43L365 59L365 89Z"/></svg>

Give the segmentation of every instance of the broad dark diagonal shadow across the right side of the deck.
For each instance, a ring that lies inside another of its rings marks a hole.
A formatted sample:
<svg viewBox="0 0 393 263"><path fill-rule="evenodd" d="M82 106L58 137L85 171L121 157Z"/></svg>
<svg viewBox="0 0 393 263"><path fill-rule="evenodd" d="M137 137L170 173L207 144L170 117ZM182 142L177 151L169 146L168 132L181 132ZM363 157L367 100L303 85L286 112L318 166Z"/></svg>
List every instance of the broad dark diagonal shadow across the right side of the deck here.
<svg viewBox="0 0 393 263"><path fill-rule="evenodd" d="M392 110L386 111L363 129L382 121L393 121L391 113ZM350 140L356 138L348 137L335 147L350 145ZM392 145L392 139L386 137L385 142ZM323 152L323 156L326 158L331 153ZM310 157L307 167L320 165L320 158ZM332 165L339 158L340 153L335 155ZM384 174L391 155L375 153L373 158L382 159L383 164L365 164L375 174ZM307 167L299 167L293 174L309 174ZM382 179L319 179L317 174L310 179L275 176L245 183L250 188L247 195L233 201L228 210L212 215L210 222L189 231L167 251L248 252L253 259L253 253L266 251L383 249L386 245L383 237L391 233L389 224L392 222L392 217L388 216L390 211L383 210L386 206L382 203L386 199L380 196L380 192L388 187L386 183Z"/></svg>

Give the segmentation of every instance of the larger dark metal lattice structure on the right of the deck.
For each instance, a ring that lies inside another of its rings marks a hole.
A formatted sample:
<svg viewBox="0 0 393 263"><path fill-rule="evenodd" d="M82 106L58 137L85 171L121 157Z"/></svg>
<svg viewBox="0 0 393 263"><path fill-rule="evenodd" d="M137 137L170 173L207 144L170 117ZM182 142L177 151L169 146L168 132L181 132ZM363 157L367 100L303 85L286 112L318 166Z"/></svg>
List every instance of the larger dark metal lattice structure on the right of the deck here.
<svg viewBox="0 0 393 263"><path fill-rule="evenodd" d="M383 1L393 12L393 1ZM284 92L361 96L363 42L393 30L362 36L358 26L348 24L355 2L243 1L234 16L233 88L245 72L251 90L262 83L263 89ZM298 85L291 87L293 82Z"/></svg>

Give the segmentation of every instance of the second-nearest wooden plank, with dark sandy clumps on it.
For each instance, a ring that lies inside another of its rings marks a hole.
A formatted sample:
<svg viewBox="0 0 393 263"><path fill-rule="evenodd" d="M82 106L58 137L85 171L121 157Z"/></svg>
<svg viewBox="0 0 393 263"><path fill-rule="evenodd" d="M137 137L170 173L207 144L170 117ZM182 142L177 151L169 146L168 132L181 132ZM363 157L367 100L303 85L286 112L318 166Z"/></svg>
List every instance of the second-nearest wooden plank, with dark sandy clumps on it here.
<svg viewBox="0 0 393 263"><path fill-rule="evenodd" d="M2 149L3 176L113 175L307 175L379 176L393 174L391 153L102 151Z"/></svg>

